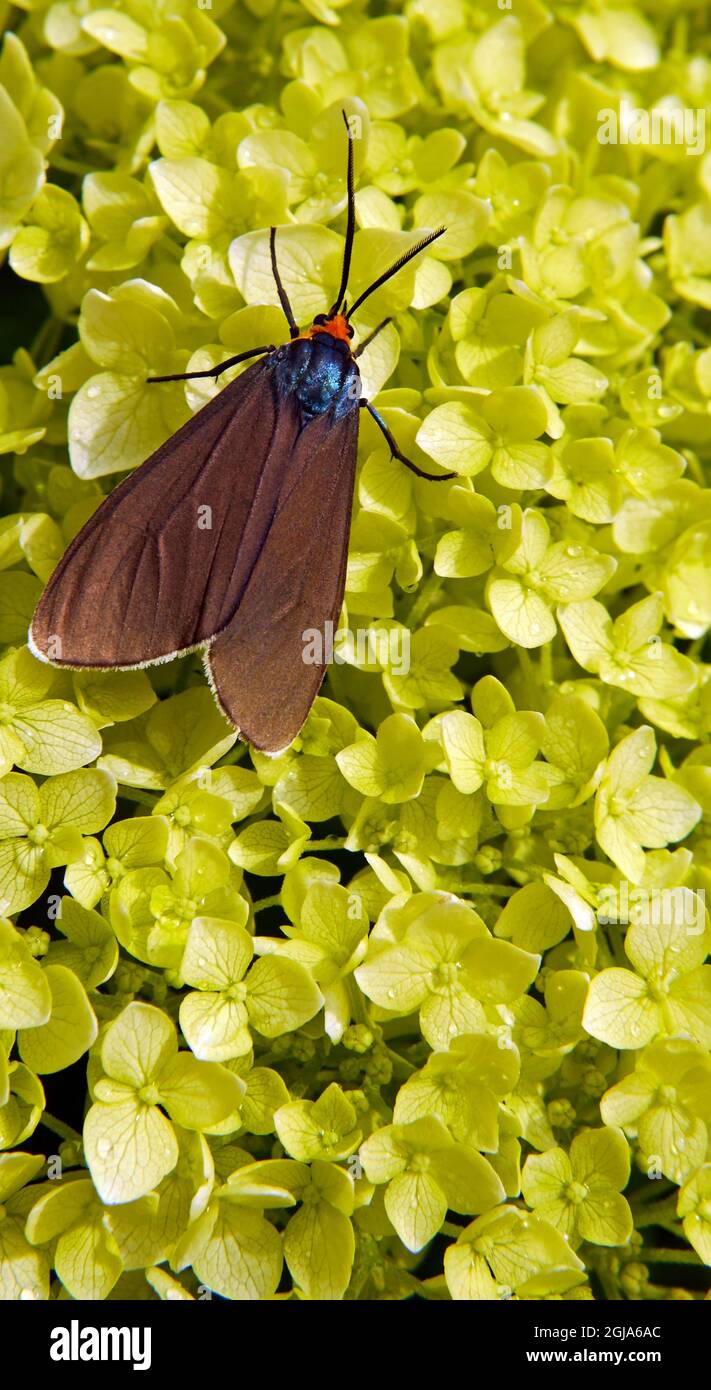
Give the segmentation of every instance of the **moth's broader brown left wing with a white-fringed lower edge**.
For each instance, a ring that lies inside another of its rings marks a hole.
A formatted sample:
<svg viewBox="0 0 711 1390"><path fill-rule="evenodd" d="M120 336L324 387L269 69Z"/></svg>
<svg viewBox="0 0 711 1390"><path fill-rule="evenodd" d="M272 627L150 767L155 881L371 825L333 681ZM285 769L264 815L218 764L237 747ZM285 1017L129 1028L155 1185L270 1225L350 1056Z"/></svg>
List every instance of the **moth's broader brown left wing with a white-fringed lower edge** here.
<svg viewBox="0 0 711 1390"><path fill-rule="evenodd" d="M40 657L144 666L229 623L271 525L300 430L268 359L249 367L115 488L51 574Z"/></svg>

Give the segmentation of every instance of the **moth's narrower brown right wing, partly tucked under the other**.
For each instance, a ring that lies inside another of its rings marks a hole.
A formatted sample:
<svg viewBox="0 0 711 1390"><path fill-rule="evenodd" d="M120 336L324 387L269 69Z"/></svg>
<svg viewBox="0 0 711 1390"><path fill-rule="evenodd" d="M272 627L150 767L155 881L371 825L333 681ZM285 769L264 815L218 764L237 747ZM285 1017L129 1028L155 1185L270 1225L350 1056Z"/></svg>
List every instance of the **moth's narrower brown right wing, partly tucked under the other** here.
<svg viewBox="0 0 711 1390"><path fill-rule="evenodd" d="M229 626L210 645L219 705L256 748L278 752L299 734L326 660L304 660L308 638L337 623L346 587L358 410L317 416L303 431L269 532Z"/></svg>

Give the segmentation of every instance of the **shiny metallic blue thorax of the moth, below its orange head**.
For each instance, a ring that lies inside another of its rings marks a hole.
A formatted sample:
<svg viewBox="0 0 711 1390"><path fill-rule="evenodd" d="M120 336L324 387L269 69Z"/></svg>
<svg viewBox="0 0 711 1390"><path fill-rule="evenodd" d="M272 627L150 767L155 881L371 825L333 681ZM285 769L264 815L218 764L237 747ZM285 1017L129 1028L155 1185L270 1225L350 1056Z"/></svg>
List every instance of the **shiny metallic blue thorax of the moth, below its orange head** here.
<svg viewBox="0 0 711 1390"><path fill-rule="evenodd" d="M297 338L272 357L279 391L294 393L307 420L333 407L340 420L356 410L361 377L347 343L331 334Z"/></svg>

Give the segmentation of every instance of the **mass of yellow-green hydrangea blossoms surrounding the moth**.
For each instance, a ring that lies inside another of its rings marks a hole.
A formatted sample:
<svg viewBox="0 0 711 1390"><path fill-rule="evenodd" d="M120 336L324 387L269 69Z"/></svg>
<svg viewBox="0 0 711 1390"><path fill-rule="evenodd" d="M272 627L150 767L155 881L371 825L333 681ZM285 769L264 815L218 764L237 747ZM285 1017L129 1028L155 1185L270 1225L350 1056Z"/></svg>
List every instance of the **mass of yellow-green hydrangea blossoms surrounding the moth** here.
<svg viewBox="0 0 711 1390"><path fill-rule="evenodd" d="M267 758L196 657L26 630L217 389L146 378L286 336L271 224L328 309L342 110L351 292L447 228L358 336L392 316L365 391L455 477L362 423L342 659ZM703 1297L708 113L696 0L19 0L1 1298Z"/></svg>

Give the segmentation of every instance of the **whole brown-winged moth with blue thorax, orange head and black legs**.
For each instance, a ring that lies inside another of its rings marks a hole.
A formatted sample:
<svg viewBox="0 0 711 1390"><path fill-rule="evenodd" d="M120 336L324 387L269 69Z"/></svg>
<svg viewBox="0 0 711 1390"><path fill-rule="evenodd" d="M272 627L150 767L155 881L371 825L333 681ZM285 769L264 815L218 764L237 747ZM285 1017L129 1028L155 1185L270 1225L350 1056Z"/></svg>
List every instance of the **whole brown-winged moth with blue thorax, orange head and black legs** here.
<svg viewBox="0 0 711 1390"><path fill-rule="evenodd" d="M219 378L258 357L125 478L65 550L39 600L31 651L54 666L131 670L203 649L215 699L254 748L278 752L299 734L326 671L304 660L307 631L333 631L343 605L358 420L368 410L393 459L407 459L362 396L353 352L357 309L443 235L429 232L346 303L356 231L353 139L340 285L328 314L300 332L269 253L289 342L229 357ZM199 525L210 509L211 525ZM203 509L203 510L200 510ZM326 624L331 628L326 628Z"/></svg>

